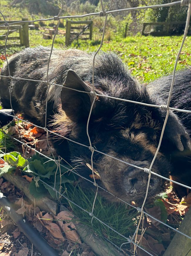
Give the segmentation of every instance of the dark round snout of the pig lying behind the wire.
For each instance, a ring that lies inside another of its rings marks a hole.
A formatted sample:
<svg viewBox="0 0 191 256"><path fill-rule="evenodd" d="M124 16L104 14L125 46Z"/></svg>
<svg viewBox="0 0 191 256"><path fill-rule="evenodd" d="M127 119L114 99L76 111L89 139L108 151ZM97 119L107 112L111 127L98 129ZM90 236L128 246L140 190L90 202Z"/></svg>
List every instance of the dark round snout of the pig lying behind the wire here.
<svg viewBox="0 0 191 256"><path fill-rule="evenodd" d="M149 164L145 165L143 163L136 163L136 166L142 168L149 168ZM127 195L144 196L146 193L148 184L148 173L136 167L130 166L124 173L123 185L125 193ZM150 185L148 190L148 195L156 195L156 191L159 190L161 185L160 178L152 175L150 178Z"/></svg>

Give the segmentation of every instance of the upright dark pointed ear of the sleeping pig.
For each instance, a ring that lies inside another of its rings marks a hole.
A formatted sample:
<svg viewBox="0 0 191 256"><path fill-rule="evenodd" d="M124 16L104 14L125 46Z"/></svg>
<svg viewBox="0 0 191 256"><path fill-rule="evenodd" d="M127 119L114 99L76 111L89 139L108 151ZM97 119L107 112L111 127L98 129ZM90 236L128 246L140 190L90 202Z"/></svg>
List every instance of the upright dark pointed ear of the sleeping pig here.
<svg viewBox="0 0 191 256"><path fill-rule="evenodd" d="M91 89L73 70L68 70L64 86L61 90L61 103L66 115L72 121L87 117L93 102L93 95L84 92L91 92Z"/></svg>

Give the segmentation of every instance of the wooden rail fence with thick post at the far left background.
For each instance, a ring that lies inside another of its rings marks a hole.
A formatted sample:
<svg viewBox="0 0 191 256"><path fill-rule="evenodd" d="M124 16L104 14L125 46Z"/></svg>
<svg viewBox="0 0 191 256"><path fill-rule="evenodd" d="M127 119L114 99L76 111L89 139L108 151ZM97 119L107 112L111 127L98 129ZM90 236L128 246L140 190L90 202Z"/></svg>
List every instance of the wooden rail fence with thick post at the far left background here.
<svg viewBox="0 0 191 256"><path fill-rule="evenodd" d="M28 19L23 18L22 21L27 21ZM13 32L16 32L19 30L19 36L8 36L8 40L20 40L20 45L24 45L25 47L29 47L29 22L21 22L21 21L8 21L9 23L12 22L18 22L16 25L10 25L9 26L9 35ZM0 25L4 24L4 21L0 21ZM0 30L7 30L6 26L0 27ZM7 36L7 32L4 35L0 36L0 40L5 40ZM9 45L7 45L9 46ZM3 45L0 45L0 48L4 47Z"/></svg>

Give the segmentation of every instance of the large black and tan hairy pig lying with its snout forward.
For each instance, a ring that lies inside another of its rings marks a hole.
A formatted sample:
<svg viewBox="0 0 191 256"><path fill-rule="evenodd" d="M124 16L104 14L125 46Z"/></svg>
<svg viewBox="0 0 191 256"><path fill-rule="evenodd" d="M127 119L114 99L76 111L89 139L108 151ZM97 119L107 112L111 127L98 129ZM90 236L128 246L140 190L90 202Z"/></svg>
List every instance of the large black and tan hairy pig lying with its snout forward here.
<svg viewBox="0 0 191 256"><path fill-rule="evenodd" d="M9 59L11 76L46 81L50 48L27 48ZM81 50L53 50L48 79L80 91L92 91L93 54ZM7 65L1 75L8 76ZM1 77L0 95L4 108L10 108L9 78ZM101 52L95 61L95 89L98 94L114 96L149 104L160 104L147 88L139 84L113 53ZM89 145L86 124L93 95L65 87L51 85L48 95L48 128L82 144ZM44 82L13 80L12 105L22 111L35 124L45 125L47 84ZM97 96L89 122L92 146L106 154L130 164L149 168L157 150L166 111L155 107ZM181 138L184 138L181 141ZM178 149L190 146L190 139L176 115L170 112L161 150L152 171L168 177L170 162L163 154L168 140ZM56 145L58 144L58 145ZM83 146L59 137L55 141L58 153L81 165L78 169L84 177L91 174L91 151ZM68 154L69 153L69 154ZM101 185L119 198L130 201L143 198L148 174L140 169L94 152L94 168L99 172ZM152 175L149 197L158 194L164 180Z"/></svg>

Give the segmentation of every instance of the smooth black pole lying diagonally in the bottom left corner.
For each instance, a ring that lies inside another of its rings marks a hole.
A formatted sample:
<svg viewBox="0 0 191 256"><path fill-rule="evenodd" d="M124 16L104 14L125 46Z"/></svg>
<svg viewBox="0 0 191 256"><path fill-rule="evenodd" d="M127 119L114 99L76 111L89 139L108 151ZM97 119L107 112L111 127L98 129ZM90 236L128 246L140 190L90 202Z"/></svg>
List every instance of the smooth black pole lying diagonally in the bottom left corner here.
<svg viewBox="0 0 191 256"><path fill-rule="evenodd" d="M23 218L22 214L15 212L9 200L1 192L0 204L4 211L6 211L7 215L9 215L14 223L19 227L19 230L21 230L26 235L26 237L42 255L58 256L56 251L50 247L47 242L39 235L39 233L29 224L29 222Z"/></svg>

